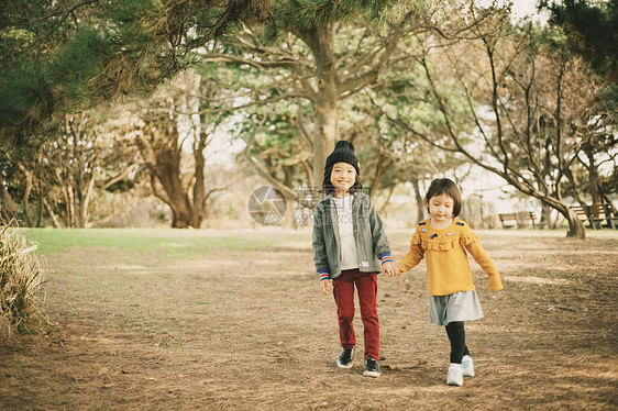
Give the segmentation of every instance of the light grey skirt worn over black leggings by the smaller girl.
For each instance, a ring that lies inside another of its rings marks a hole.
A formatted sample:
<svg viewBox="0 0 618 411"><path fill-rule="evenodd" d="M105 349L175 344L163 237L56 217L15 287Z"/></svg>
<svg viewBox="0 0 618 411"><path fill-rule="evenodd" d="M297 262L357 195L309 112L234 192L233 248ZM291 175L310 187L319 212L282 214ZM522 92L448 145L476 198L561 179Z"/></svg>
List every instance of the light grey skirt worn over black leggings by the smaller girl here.
<svg viewBox="0 0 618 411"><path fill-rule="evenodd" d="M429 296L429 322L437 326L452 321L471 321L483 318L476 291L460 291L448 296Z"/></svg>

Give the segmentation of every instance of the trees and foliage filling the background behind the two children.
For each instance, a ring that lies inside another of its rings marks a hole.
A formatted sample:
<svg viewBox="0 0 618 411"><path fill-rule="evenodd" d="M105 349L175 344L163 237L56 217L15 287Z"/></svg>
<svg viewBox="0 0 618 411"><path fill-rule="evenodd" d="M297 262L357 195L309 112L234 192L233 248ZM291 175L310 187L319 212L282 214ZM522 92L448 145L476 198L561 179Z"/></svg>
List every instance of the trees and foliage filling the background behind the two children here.
<svg viewBox="0 0 618 411"><path fill-rule="evenodd" d="M583 236L569 206L617 189L616 2L540 7L550 24L466 1L3 2L1 216L246 225L252 188L293 199L345 138L385 215L481 167Z"/></svg>

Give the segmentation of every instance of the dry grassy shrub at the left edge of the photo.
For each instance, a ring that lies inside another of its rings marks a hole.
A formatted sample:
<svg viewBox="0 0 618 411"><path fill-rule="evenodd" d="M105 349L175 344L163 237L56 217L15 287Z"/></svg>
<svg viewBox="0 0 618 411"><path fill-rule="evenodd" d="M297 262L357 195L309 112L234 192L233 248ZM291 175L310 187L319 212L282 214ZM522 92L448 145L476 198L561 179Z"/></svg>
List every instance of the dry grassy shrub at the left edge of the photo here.
<svg viewBox="0 0 618 411"><path fill-rule="evenodd" d="M11 223L0 224L0 340L33 333L43 323L40 300L43 264Z"/></svg>

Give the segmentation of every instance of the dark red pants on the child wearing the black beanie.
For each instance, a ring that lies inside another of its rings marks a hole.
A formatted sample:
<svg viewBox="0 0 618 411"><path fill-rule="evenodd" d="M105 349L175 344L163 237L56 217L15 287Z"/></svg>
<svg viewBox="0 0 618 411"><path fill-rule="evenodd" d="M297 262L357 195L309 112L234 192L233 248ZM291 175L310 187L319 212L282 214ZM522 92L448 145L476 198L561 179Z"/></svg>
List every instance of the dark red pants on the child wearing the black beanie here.
<svg viewBox="0 0 618 411"><path fill-rule="evenodd" d="M377 277L375 274L347 269L333 280L333 296L339 319L339 338L341 346L351 349L356 345L354 335L354 286L358 290L361 319L364 325L365 359L374 357L379 360L379 323L377 319Z"/></svg>

